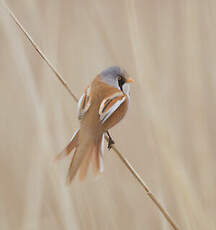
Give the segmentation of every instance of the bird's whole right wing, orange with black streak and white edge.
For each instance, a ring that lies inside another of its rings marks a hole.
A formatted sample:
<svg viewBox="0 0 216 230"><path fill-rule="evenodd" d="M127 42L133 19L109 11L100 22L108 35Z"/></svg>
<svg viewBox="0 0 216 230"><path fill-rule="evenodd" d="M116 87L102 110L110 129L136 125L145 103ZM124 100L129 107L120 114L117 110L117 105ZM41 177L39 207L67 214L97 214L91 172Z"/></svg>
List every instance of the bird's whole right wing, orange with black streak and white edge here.
<svg viewBox="0 0 216 230"><path fill-rule="evenodd" d="M127 99L122 92L117 92L105 98L99 108L100 120L104 123Z"/></svg>

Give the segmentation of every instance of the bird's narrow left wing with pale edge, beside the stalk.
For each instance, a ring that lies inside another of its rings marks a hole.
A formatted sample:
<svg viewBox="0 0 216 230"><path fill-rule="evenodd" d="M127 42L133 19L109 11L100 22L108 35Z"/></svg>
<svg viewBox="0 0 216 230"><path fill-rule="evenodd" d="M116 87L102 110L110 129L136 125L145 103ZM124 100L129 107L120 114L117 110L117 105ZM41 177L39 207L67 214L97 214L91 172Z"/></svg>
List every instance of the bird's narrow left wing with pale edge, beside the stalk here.
<svg viewBox="0 0 216 230"><path fill-rule="evenodd" d="M88 86L78 102L78 118L81 120L91 105L90 97L91 88Z"/></svg>

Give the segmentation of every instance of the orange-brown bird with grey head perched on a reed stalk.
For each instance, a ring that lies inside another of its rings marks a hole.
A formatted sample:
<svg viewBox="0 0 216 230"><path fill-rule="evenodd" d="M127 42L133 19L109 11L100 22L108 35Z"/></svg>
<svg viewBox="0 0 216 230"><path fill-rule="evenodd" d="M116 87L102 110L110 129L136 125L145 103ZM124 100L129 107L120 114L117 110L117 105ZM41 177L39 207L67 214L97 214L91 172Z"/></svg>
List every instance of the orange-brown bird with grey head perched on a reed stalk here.
<svg viewBox="0 0 216 230"><path fill-rule="evenodd" d="M107 147L111 149L114 141L109 129L125 116L130 100L129 84L133 81L123 68L111 66L99 73L84 90L78 102L80 128L56 156L57 161L61 160L75 149L68 169L68 184L78 171L80 180L85 179L90 163L95 175L104 171L104 135L107 133Z"/></svg>

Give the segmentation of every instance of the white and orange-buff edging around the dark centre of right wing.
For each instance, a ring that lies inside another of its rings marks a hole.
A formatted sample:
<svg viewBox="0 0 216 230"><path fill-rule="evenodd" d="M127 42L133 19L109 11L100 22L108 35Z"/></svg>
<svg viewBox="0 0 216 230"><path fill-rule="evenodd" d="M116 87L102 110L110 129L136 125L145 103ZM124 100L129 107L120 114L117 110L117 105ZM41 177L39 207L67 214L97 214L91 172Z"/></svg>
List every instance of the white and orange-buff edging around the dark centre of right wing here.
<svg viewBox="0 0 216 230"><path fill-rule="evenodd" d="M122 94L121 92L116 93L116 94L113 94L111 97L108 97L102 101L100 108L99 108L99 115L100 115L100 120L102 123L104 123L118 109L118 107L126 100L126 96L123 96L123 95L124 94ZM113 99L116 99L117 97L120 97L121 99L117 100L107 111L103 112L105 110L106 103L111 102Z"/></svg>

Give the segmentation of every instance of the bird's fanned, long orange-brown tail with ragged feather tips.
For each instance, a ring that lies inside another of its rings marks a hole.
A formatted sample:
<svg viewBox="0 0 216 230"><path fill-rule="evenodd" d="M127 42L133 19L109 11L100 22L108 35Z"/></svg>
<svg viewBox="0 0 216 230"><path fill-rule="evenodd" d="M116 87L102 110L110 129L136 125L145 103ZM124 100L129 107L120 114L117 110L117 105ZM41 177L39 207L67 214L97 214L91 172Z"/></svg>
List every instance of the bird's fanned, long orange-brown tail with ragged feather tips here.
<svg viewBox="0 0 216 230"><path fill-rule="evenodd" d="M69 155L75 149L67 175L67 183L71 183L78 169L79 177L83 180L88 172L89 164L92 162L94 173L103 172L103 142L104 136L101 135L97 140L83 140L80 138L79 130L74 134L68 145L56 157L57 160Z"/></svg>

